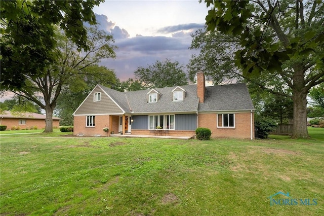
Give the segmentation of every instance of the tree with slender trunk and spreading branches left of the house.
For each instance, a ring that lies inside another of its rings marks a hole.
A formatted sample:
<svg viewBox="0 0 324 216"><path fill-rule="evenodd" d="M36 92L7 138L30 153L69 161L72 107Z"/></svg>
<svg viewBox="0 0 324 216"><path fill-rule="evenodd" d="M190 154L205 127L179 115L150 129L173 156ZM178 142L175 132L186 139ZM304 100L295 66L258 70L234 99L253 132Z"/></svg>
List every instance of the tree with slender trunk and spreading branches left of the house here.
<svg viewBox="0 0 324 216"><path fill-rule="evenodd" d="M105 72L92 73L89 67L97 65L104 58L114 58L115 48L111 43L113 38L98 28L90 28L86 42L88 51L79 50L75 43L68 40L64 34L58 38L57 59L46 68L46 73L38 77L24 75L25 85L20 90L11 90L17 95L25 97L46 112L46 127L44 132L53 132L53 111L58 97L64 86L73 84L82 88L86 84L85 77L91 80L93 76L107 76ZM80 87L81 86L81 87Z"/></svg>

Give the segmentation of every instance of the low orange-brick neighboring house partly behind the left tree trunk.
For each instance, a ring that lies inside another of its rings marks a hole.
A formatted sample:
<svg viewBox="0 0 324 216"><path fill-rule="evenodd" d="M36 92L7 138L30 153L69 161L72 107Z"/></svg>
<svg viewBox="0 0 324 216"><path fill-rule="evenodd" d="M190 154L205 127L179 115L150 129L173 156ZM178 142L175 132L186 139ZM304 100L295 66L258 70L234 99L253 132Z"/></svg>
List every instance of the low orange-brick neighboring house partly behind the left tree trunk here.
<svg viewBox="0 0 324 216"><path fill-rule="evenodd" d="M60 125L60 118L53 117L53 128L58 128ZM7 125L7 130L12 127L19 127L20 129L31 129L37 127L38 129L45 128L45 115L38 113L11 113L4 111L0 114L1 125Z"/></svg>

